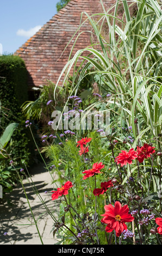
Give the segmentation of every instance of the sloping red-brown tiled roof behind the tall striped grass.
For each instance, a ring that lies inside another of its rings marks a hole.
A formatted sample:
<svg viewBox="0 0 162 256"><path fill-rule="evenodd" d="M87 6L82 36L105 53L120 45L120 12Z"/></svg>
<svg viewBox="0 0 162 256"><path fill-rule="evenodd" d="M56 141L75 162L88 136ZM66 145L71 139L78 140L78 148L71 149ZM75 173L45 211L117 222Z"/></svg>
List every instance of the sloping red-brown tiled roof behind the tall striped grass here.
<svg viewBox="0 0 162 256"><path fill-rule="evenodd" d="M116 0L103 2L106 7L111 7ZM57 82L74 44L75 38L67 46L79 28L81 13L91 15L101 10L100 0L72 0L16 51L15 55L22 57L27 67L29 88L43 85L46 80ZM84 14L82 21L86 18ZM81 28L82 31L89 29L92 29L89 22ZM90 45L89 35L89 32L82 33L75 44L73 54Z"/></svg>

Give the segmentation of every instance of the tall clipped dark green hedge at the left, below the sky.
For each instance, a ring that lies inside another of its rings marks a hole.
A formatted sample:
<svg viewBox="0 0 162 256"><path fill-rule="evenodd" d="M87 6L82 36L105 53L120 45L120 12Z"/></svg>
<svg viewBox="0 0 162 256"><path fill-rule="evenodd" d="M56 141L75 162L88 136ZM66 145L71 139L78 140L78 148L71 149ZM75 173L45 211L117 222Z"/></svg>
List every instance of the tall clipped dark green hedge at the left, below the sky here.
<svg viewBox="0 0 162 256"><path fill-rule="evenodd" d="M21 105L27 100L27 69L24 61L18 56L1 56L0 101L5 109L0 113L0 135L10 123L19 123L8 145L8 151L12 159L15 159L18 164L25 161L28 165L34 154L34 147L30 132L25 127L25 119L21 111Z"/></svg>

